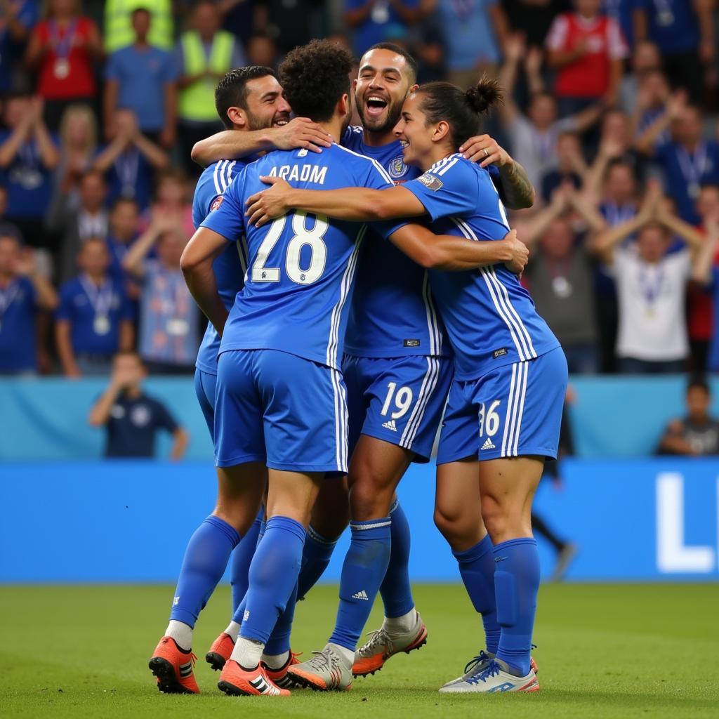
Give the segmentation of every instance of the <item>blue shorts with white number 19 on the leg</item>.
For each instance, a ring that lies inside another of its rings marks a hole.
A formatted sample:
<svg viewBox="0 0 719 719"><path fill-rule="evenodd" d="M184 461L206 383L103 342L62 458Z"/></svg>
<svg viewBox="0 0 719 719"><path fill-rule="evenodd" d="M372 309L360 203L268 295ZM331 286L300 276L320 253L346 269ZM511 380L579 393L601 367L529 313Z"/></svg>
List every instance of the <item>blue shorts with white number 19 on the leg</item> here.
<svg viewBox="0 0 719 719"><path fill-rule="evenodd" d="M342 374L347 383L350 450L360 434L367 434L411 449L416 462L429 462L452 384L452 360L345 354Z"/></svg>

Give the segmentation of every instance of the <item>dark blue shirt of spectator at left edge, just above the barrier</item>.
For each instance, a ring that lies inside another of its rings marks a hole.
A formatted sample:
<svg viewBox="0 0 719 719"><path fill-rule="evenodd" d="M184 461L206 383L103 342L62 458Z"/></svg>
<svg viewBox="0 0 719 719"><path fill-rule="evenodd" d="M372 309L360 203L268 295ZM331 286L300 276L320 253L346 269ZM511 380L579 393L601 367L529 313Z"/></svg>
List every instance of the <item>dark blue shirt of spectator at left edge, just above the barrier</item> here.
<svg viewBox="0 0 719 719"><path fill-rule="evenodd" d="M0 290L0 373L35 372L37 293L27 277Z"/></svg>

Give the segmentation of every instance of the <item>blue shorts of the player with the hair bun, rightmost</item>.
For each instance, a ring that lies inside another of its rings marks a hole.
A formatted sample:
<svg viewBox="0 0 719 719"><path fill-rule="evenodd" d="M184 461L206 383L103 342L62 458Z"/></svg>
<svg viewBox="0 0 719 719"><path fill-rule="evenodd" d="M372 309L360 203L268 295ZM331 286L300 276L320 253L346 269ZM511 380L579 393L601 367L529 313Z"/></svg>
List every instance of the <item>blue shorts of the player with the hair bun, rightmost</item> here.
<svg viewBox="0 0 719 719"><path fill-rule="evenodd" d="M556 458L566 393L567 359L560 347L478 380L454 380L437 464L465 457Z"/></svg>

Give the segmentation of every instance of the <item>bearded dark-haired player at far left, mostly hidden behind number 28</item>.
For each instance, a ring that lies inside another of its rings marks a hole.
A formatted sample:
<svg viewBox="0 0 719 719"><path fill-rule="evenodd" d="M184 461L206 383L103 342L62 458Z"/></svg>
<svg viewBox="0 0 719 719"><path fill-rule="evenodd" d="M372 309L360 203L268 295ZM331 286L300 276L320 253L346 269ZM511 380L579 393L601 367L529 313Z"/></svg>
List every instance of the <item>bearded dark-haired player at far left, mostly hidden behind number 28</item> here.
<svg viewBox="0 0 719 719"><path fill-rule="evenodd" d="M215 106L228 130L262 131L282 144L282 133L290 119L290 106L283 99L282 88L270 68L250 66L231 70L215 90ZM290 139L292 146L296 140ZM248 158L249 159L249 158ZM207 167L198 180L193 198L193 224L197 228L211 209L218 206L232 178L247 160L221 160ZM226 308L232 307L234 296L242 288L247 257L241 243L227 244L224 252L212 265L219 295ZM198 352L195 371L195 390L200 407L214 438L214 404L217 375L217 354L220 340L216 329L208 324ZM265 467L257 465L257 481L265 481ZM161 692L198 692L191 664L192 631L198 614L224 573L229 554L232 561L233 611L247 591L247 571L255 553L260 518L244 534L244 510L238 510L235 487L244 477L235 477L218 470L218 500L214 512L191 537L180 569L170 623L165 636L150 659L150 669L157 676ZM237 632L222 633L214 641L206 656L215 669L221 669L224 656L232 653ZM188 669L189 667L189 669Z"/></svg>

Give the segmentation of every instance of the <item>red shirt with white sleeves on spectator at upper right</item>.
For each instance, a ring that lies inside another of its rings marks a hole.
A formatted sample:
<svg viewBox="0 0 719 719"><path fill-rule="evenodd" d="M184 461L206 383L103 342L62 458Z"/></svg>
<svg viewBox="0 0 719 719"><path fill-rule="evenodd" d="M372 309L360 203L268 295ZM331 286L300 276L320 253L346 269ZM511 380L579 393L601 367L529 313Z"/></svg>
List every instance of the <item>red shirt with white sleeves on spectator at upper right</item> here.
<svg viewBox="0 0 719 719"><path fill-rule="evenodd" d="M558 15L549 28L546 47L570 52L584 40L587 51L557 70L554 92L560 97L600 98L609 90L610 64L623 60L628 48L613 18L588 19L575 12Z"/></svg>

